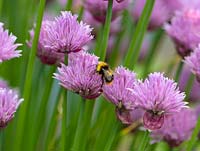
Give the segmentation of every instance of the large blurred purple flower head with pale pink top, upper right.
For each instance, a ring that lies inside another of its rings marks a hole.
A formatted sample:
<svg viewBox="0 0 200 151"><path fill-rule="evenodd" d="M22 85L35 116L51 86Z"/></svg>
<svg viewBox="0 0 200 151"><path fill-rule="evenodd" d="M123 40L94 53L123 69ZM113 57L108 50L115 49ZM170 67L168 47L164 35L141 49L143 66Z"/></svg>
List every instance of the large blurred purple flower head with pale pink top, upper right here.
<svg viewBox="0 0 200 151"><path fill-rule="evenodd" d="M165 25L165 30L176 43L178 53L182 57L189 55L200 43L200 11L176 12L171 23Z"/></svg>

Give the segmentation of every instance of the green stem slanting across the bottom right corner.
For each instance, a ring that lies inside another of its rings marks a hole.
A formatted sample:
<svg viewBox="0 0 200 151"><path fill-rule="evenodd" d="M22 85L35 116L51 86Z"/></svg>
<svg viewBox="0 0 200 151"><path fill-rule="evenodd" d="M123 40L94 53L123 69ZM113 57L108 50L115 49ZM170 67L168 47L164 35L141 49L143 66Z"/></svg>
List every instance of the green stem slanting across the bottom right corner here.
<svg viewBox="0 0 200 151"><path fill-rule="evenodd" d="M192 133L192 136L187 144L187 148L186 150L187 151L191 151L196 140L197 140L197 136L199 134L199 131L200 131L200 117L198 118L198 121L197 121L197 124L196 124L196 127L194 128L194 131Z"/></svg>

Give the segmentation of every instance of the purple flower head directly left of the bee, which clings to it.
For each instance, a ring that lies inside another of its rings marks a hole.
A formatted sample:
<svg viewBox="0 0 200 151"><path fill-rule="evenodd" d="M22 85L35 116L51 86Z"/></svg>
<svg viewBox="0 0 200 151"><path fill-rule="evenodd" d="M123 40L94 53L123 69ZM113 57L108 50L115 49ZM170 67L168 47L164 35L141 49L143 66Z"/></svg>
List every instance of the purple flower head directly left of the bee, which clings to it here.
<svg viewBox="0 0 200 151"><path fill-rule="evenodd" d="M101 92L102 78L96 72L98 57L86 52L69 55L69 65L58 68L54 76L60 85L84 98L97 98Z"/></svg>

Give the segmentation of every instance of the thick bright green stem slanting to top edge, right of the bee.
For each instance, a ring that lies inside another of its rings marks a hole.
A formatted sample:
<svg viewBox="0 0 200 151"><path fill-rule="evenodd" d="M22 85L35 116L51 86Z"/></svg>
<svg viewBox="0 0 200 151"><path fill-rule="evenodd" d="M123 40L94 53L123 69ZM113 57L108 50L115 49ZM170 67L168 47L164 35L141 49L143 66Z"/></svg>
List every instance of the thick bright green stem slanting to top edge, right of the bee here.
<svg viewBox="0 0 200 151"><path fill-rule="evenodd" d="M125 61L124 61L124 65L128 68L133 69L134 65L137 62L137 59L138 59L138 56L140 53L140 48L142 45L142 41L143 41L145 32L147 30L147 26L148 26L151 12L153 9L154 2L155 2L155 0L146 1L146 4L142 11L142 15L136 26L132 41L130 43L130 46L129 46L129 49L128 49L128 52L126 54Z"/></svg>

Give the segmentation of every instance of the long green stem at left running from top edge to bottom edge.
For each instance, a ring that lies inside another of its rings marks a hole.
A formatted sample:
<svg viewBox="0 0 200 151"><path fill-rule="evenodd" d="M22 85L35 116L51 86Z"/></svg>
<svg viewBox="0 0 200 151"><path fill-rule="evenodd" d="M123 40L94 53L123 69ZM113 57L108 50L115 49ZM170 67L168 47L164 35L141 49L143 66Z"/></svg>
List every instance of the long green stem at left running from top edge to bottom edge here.
<svg viewBox="0 0 200 151"><path fill-rule="evenodd" d="M29 97L31 93L33 67L34 67L34 61L35 61L35 56L36 56L36 49L37 49L37 43L39 39L43 12L45 8L45 2L46 0L40 0L40 4L39 4L33 45L32 45L30 56L29 56L28 67L27 67L26 78L25 78L25 85L24 85L24 92L23 92L23 97L25 101L22 103L21 108L19 110L19 117L18 117L19 119L18 119L18 123L16 127L16 141L14 144L15 151L21 150L20 147L22 145L23 132L24 132L24 127L25 127L25 118L26 118L26 113L28 110L28 105L29 105L29 100L30 100Z"/></svg>

